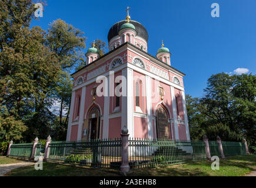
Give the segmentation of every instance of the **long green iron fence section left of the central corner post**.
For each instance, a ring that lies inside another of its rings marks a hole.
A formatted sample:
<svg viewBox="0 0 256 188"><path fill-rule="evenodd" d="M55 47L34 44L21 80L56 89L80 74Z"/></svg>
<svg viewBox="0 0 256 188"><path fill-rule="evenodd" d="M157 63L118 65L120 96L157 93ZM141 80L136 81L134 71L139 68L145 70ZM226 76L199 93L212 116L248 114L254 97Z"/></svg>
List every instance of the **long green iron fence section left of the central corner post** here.
<svg viewBox="0 0 256 188"><path fill-rule="evenodd" d="M51 142L47 160L80 166L119 169L121 139Z"/></svg>

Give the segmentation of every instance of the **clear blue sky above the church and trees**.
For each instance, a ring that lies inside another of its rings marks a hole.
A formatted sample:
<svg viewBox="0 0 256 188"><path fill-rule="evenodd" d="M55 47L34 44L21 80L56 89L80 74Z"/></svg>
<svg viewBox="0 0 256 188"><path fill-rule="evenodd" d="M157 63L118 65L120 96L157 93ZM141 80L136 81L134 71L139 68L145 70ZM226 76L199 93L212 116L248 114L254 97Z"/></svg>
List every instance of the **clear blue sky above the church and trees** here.
<svg viewBox="0 0 256 188"><path fill-rule="evenodd" d="M212 3L220 5L219 18L211 16ZM43 18L33 20L32 26L46 30L60 18L85 33L87 47L94 39L108 43L109 28L125 19L127 6L131 19L148 31L148 53L156 55L164 40L172 53L171 66L186 74L185 93L201 97L215 73L246 68L255 74L255 0L48 0Z"/></svg>

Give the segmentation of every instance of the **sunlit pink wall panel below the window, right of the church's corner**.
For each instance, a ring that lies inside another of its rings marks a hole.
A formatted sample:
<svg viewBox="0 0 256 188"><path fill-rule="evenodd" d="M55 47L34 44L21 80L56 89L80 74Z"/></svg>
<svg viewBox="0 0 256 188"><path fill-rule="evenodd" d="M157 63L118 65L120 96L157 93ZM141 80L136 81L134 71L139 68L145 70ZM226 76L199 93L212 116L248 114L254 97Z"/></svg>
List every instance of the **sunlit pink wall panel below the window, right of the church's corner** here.
<svg viewBox="0 0 256 188"><path fill-rule="evenodd" d="M134 137L147 139L148 126L146 118L134 117Z"/></svg>

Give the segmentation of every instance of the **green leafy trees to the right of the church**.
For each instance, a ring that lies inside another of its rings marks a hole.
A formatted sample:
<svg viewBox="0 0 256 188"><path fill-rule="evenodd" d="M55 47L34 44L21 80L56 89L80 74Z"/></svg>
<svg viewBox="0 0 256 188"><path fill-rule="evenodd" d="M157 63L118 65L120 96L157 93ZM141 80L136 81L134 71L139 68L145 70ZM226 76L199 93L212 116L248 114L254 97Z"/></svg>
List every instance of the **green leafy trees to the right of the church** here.
<svg viewBox="0 0 256 188"><path fill-rule="evenodd" d="M256 76L249 74L212 75L201 99L187 98L191 139L247 140L254 151L256 140Z"/></svg>

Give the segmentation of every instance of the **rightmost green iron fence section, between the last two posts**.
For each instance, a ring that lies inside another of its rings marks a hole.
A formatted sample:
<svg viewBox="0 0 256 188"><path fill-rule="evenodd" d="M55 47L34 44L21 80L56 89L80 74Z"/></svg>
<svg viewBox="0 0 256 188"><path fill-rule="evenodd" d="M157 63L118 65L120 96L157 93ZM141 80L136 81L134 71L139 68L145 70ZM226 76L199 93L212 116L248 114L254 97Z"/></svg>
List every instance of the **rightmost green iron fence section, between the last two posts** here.
<svg viewBox="0 0 256 188"><path fill-rule="evenodd" d="M245 155L245 144L244 142L225 142L221 141L224 156L231 155Z"/></svg>

